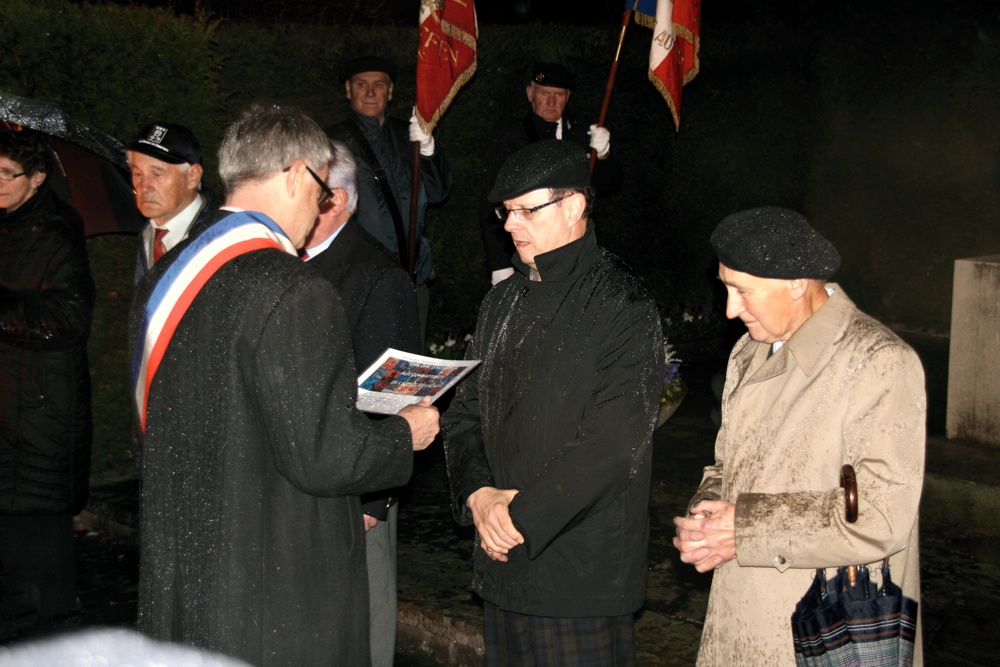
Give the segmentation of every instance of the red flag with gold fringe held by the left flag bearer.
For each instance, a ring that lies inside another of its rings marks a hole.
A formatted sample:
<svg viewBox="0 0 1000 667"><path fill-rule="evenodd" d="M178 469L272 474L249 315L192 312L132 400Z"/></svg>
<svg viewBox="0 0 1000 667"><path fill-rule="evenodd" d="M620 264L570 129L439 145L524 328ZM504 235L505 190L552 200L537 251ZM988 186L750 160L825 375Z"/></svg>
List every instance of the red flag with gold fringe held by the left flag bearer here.
<svg viewBox="0 0 1000 667"><path fill-rule="evenodd" d="M417 46L417 120L430 133L455 93L476 71L473 0L421 0Z"/></svg>

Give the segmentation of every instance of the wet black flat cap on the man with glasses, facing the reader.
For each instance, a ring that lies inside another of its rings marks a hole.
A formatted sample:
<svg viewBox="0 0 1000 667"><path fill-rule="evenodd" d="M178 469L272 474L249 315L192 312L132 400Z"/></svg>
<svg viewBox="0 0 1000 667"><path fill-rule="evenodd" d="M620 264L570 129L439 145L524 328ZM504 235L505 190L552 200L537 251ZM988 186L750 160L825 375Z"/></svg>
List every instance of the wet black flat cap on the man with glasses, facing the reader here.
<svg viewBox="0 0 1000 667"><path fill-rule="evenodd" d="M543 188L585 188L590 161L579 144L548 139L521 148L500 167L489 200L505 201Z"/></svg>

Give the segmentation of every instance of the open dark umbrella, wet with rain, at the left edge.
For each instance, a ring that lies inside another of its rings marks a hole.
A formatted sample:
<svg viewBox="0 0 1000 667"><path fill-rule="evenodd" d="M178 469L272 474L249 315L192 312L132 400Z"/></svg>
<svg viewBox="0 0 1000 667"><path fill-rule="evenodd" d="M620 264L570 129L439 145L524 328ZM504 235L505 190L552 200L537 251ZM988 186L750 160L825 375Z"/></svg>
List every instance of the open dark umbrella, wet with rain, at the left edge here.
<svg viewBox="0 0 1000 667"><path fill-rule="evenodd" d="M83 218L84 234L137 233L144 220L135 205L122 144L67 116L52 102L0 91L0 121L49 135L62 173L50 184Z"/></svg>

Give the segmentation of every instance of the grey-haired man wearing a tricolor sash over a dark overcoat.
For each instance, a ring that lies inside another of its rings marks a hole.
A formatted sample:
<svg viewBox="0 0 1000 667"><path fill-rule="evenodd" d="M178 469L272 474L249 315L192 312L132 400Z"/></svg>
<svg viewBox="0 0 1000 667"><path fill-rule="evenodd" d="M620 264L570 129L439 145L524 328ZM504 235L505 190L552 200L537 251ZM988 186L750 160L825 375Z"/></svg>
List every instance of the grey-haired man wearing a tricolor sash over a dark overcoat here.
<svg viewBox="0 0 1000 667"><path fill-rule="evenodd" d="M226 206L139 283L139 628L255 665L367 667L358 496L405 484L437 411L359 412L351 336L298 258L330 142L255 105L219 149Z"/></svg>

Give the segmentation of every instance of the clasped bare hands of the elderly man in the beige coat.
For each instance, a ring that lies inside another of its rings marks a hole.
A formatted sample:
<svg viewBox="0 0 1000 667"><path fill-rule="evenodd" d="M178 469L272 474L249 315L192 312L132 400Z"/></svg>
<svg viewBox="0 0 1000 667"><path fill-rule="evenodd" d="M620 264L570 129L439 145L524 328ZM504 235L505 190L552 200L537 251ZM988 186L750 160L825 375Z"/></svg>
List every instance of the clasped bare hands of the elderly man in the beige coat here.
<svg viewBox="0 0 1000 667"><path fill-rule="evenodd" d="M681 560L708 572L736 558L736 505L724 500L703 500L691 515L674 517L674 546Z"/></svg>

